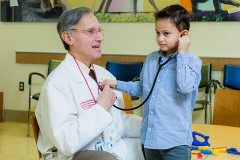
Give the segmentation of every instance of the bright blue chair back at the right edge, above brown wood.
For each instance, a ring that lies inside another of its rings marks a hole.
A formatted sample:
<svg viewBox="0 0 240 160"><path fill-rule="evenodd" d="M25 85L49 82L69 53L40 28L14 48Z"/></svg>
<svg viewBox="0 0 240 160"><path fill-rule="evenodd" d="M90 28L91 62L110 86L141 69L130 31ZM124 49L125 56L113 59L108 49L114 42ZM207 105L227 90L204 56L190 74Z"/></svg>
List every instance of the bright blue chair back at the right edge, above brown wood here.
<svg viewBox="0 0 240 160"><path fill-rule="evenodd" d="M223 86L240 90L240 66L225 64L224 65L224 76Z"/></svg>

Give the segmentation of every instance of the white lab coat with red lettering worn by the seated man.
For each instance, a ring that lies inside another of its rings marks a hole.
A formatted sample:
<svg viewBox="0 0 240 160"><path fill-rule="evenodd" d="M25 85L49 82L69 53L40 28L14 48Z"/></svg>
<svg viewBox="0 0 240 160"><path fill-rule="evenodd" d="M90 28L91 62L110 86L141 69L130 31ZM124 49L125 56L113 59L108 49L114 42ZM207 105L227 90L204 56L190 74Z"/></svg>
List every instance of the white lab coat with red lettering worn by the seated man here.
<svg viewBox="0 0 240 160"><path fill-rule="evenodd" d="M99 82L115 79L104 68L97 65L94 68ZM83 70L81 73L69 53L46 79L35 111L40 127L37 146L43 157L49 154L45 159L70 160L78 151L95 150L103 133L104 140L113 144L109 152L123 160L143 160L141 143L136 138L142 119L114 107L106 111L98 104L83 109L93 99L84 77L97 99L100 93L97 84ZM115 104L123 107L121 92L115 93L118 98ZM57 152L52 153L52 147Z"/></svg>

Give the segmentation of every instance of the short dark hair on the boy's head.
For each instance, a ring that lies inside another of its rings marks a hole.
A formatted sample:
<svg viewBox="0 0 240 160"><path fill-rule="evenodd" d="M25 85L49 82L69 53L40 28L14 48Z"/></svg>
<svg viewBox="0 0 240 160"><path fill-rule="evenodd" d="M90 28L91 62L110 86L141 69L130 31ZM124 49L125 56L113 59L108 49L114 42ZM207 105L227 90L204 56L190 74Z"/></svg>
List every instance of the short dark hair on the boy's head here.
<svg viewBox="0 0 240 160"><path fill-rule="evenodd" d="M178 4L163 8L161 11L156 12L154 17L155 22L161 19L170 20L179 31L185 29L189 31L190 29L190 15L184 7Z"/></svg>

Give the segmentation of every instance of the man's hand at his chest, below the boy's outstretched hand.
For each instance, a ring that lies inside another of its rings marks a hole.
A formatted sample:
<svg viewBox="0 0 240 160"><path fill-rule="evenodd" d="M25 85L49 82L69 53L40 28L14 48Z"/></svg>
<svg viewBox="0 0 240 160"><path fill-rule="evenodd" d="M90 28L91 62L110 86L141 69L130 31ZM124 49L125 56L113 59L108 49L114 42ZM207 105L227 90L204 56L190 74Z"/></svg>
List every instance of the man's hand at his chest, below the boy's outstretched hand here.
<svg viewBox="0 0 240 160"><path fill-rule="evenodd" d="M105 110L109 110L116 101L116 95L109 85L105 85L102 93L98 96L97 104Z"/></svg>

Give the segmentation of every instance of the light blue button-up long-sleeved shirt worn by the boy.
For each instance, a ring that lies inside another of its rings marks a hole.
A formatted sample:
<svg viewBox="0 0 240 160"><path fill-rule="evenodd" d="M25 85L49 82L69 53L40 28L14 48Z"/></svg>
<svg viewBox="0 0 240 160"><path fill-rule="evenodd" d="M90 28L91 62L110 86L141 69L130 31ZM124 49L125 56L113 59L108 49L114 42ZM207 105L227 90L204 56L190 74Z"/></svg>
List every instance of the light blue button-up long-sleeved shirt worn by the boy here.
<svg viewBox="0 0 240 160"><path fill-rule="evenodd" d="M138 82L118 81L117 90L134 96L148 96L159 57L163 64L172 56L161 51L150 53L144 63ZM192 144L192 111L201 80L202 61L197 56L176 54L164 65L156 79L153 92L144 104L140 138L145 148L168 149Z"/></svg>

